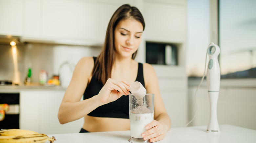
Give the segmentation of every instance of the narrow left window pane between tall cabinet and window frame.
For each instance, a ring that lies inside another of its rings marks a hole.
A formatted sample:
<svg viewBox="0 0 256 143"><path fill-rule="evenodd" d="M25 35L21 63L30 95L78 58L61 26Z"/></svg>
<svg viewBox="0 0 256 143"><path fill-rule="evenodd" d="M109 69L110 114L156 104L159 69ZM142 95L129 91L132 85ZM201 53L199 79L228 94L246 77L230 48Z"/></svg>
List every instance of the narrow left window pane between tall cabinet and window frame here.
<svg viewBox="0 0 256 143"><path fill-rule="evenodd" d="M205 55L210 44L209 9L209 0L187 1L186 69L190 78L203 76Z"/></svg>

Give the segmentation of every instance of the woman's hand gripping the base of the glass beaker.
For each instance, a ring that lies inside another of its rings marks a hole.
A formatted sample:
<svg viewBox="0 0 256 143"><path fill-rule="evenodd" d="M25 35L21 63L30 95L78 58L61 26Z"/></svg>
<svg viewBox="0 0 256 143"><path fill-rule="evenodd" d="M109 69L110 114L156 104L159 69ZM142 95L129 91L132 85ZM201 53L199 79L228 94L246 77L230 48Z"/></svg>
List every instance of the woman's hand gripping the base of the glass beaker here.
<svg viewBox="0 0 256 143"><path fill-rule="evenodd" d="M147 124L145 129L146 132L143 132L141 136L144 140L150 140L150 142L156 142L162 140L167 132L167 128L165 128L160 122L157 120L152 121L151 123Z"/></svg>

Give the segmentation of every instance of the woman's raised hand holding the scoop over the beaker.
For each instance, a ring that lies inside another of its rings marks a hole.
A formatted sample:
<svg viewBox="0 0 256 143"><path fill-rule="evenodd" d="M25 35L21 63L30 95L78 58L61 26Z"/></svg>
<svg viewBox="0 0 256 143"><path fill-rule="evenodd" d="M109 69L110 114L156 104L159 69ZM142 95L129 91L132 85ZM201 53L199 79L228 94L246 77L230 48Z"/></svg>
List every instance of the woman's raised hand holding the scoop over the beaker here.
<svg viewBox="0 0 256 143"><path fill-rule="evenodd" d="M130 93L129 88L130 84L126 81L117 81L109 78L97 96L101 103L107 104L117 100L122 95L128 95Z"/></svg>

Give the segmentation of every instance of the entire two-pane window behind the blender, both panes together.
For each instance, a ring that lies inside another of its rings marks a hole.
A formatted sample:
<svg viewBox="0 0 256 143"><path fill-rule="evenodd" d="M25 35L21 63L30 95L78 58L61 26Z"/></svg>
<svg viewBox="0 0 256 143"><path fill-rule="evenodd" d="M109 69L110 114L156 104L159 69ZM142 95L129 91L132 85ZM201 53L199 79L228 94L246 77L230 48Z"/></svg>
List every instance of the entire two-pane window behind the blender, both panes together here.
<svg viewBox="0 0 256 143"><path fill-rule="evenodd" d="M256 0L216 0L219 5L221 78L256 78ZM217 7L217 6L216 6ZM210 42L210 1L187 1L187 75L201 78Z"/></svg>

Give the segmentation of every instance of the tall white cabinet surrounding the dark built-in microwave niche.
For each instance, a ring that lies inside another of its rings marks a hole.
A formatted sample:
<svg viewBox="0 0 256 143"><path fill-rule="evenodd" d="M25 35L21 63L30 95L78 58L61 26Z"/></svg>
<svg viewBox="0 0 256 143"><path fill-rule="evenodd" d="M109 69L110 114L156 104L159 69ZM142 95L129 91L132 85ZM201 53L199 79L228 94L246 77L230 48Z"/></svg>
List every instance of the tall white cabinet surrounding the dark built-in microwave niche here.
<svg viewBox="0 0 256 143"><path fill-rule="evenodd" d="M153 65L161 96L172 120L172 127L184 127L188 121L186 75L186 0L144 0L145 41L177 46L178 65Z"/></svg>

